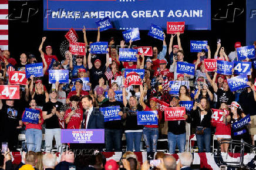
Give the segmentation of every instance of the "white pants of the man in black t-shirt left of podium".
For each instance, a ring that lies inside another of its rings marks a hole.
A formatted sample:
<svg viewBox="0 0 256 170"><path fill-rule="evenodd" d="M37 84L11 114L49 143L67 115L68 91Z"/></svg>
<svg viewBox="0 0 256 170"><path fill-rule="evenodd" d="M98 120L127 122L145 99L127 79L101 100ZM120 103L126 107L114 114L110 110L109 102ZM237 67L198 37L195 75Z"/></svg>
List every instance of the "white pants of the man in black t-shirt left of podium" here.
<svg viewBox="0 0 256 170"><path fill-rule="evenodd" d="M60 128L45 129L45 152L50 152L50 149L52 149L53 137L55 138L55 141L56 141L56 147L58 151L60 151L61 149L60 135L61 135Z"/></svg>

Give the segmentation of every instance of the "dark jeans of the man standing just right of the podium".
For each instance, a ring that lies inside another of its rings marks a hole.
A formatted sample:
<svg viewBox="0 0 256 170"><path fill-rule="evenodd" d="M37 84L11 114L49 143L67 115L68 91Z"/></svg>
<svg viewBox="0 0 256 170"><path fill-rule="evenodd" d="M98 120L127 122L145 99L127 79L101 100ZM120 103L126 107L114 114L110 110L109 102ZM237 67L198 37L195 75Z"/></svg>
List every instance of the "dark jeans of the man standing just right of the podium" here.
<svg viewBox="0 0 256 170"><path fill-rule="evenodd" d="M106 152L122 152L123 130L105 129Z"/></svg>

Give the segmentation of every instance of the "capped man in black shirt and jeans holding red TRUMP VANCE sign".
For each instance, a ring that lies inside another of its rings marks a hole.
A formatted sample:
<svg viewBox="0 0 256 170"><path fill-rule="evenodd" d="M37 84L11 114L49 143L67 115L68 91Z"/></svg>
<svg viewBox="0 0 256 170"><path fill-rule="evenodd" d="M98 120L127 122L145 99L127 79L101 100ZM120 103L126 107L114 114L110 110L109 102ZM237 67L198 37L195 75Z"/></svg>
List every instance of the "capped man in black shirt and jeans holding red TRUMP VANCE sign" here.
<svg viewBox="0 0 256 170"><path fill-rule="evenodd" d="M180 107L178 96L171 96L170 107ZM187 113L187 110L186 110ZM187 119L187 115L184 115ZM176 143L178 152L184 152L186 146L186 123L184 120L168 121L168 145L170 154L175 154Z"/></svg>

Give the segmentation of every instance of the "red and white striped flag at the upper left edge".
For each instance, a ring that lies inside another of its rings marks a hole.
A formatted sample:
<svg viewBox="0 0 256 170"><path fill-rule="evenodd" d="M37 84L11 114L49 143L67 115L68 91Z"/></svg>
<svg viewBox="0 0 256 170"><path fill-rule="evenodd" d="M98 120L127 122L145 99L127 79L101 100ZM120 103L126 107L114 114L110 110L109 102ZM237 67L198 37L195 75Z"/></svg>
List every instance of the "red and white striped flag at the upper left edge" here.
<svg viewBox="0 0 256 170"><path fill-rule="evenodd" d="M0 1L0 49L8 50L8 0Z"/></svg>

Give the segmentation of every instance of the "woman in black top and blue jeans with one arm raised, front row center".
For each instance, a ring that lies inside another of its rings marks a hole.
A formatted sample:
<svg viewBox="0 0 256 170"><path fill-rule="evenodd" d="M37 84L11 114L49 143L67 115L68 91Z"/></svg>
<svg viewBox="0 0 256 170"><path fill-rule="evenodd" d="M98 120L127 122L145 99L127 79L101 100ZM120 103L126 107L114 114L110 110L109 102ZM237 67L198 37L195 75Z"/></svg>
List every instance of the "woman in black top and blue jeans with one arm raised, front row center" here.
<svg viewBox="0 0 256 170"><path fill-rule="evenodd" d="M136 96L131 96L129 102L126 100L126 90L123 87L123 104L129 110L124 113L126 118L125 135L127 151L140 152L140 141L142 140L143 125L137 125L137 111L142 111L143 107L137 101Z"/></svg>

